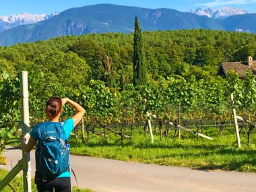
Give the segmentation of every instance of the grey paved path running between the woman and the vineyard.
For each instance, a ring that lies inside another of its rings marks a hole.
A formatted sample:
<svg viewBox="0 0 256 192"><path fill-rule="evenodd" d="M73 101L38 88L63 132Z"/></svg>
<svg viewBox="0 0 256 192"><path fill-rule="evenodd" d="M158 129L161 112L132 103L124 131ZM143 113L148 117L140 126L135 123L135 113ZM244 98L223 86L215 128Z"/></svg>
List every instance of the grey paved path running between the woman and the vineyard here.
<svg viewBox="0 0 256 192"><path fill-rule="evenodd" d="M7 148L7 166L11 169L20 160L22 151ZM34 174L34 152L32 174ZM174 166L158 166L100 158L71 156L71 166L80 188L109 192L255 192L256 174L243 172L205 171ZM71 181L75 185L75 181Z"/></svg>

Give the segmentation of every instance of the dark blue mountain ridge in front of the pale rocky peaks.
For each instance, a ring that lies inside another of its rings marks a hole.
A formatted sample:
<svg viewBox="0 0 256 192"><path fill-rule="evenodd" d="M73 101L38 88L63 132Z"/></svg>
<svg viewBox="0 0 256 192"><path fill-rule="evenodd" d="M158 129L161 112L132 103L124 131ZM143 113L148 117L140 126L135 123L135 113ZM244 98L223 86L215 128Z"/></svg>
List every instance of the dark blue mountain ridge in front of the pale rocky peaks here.
<svg viewBox="0 0 256 192"><path fill-rule="evenodd" d="M135 16L139 18L143 31L203 28L256 33L256 13L232 15L224 20L216 20L174 9L99 4L67 9L47 20L5 30L0 33L0 45L9 46L20 42L88 33L129 33L133 32Z"/></svg>

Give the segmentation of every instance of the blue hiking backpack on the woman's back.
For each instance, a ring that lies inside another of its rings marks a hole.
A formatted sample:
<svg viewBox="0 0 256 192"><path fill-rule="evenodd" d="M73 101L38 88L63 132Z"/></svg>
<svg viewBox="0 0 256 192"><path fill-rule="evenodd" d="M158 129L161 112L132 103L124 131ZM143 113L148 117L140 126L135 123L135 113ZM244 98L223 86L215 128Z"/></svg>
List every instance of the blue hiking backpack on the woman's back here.
<svg viewBox="0 0 256 192"><path fill-rule="evenodd" d="M36 125L36 172L54 179L69 170L69 149L63 124L44 122Z"/></svg>

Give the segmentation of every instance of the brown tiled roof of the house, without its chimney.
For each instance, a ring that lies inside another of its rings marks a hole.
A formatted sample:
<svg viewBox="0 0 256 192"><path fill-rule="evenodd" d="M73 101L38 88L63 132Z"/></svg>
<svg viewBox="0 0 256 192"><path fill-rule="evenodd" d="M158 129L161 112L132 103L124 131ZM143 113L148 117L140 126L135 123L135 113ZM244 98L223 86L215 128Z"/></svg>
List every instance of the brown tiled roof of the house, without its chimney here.
<svg viewBox="0 0 256 192"><path fill-rule="evenodd" d="M222 63L222 68L224 69L225 75L227 75L228 71L234 71L241 77L244 77L245 72L250 69L248 65L245 65L241 62Z"/></svg>

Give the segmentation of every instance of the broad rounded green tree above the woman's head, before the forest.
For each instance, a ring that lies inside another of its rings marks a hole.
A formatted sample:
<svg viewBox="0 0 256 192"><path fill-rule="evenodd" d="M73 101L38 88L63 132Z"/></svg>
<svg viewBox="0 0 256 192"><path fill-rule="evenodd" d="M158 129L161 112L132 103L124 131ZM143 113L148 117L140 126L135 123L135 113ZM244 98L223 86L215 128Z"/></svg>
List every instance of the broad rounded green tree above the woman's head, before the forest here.
<svg viewBox="0 0 256 192"><path fill-rule="evenodd" d="M82 84L88 84L91 78L91 68L84 59L75 53L63 53L54 51L47 55L40 55L34 61L31 75L34 77L44 73L41 85L48 87L49 84L57 84L63 88L78 88Z"/></svg>

